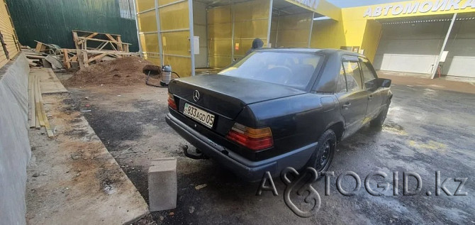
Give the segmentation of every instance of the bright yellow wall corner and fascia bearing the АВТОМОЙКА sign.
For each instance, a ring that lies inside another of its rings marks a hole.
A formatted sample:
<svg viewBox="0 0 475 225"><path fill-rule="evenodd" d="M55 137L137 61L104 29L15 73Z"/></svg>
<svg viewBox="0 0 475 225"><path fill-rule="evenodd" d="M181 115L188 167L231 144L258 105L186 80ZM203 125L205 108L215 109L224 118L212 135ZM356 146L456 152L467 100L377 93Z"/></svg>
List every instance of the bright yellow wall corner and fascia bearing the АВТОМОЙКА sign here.
<svg viewBox="0 0 475 225"><path fill-rule="evenodd" d="M290 0L289 0L290 1ZM381 35L378 20L390 18L417 18L441 14L475 11L473 0L401 1L391 4L360 6L341 9L340 21L318 21L313 29L312 48L340 48L360 46L372 61ZM324 14L324 13L323 13ZM332 37L332 38L329 38Z"/></svg>

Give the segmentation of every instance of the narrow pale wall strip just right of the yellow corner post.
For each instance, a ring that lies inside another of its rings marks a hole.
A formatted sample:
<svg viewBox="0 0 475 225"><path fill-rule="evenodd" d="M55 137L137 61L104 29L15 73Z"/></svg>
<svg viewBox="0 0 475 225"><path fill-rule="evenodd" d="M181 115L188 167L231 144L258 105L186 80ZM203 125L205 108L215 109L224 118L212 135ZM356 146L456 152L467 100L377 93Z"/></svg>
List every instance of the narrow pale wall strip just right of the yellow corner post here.
<svg viewBox="0 0 475 225"><path fill-rule="evenodd" d="M199 55L195 55L195 67L208 67L208 35L206 33L206 5L193 2L193 32L199 36Z"/></svg>

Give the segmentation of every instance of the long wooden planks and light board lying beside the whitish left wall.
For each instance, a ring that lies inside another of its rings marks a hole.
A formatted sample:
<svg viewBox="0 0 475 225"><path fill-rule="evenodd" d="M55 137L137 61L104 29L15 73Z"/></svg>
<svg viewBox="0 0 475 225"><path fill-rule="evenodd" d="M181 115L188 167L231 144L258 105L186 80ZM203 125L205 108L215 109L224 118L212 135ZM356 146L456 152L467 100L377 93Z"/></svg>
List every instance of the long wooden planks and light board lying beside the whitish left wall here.
<svg viewBox="0 0 475 225"><path fill-rule="evenodd" d="M43 93L60 93L67 92L62 86L59 79L50 68L32 69L28 77L28 96L29 96L29 112L28 123L30 128L40 129L45 127L47 136L52 138L50 122L47 119L47 114L44 107Z"/></svg>

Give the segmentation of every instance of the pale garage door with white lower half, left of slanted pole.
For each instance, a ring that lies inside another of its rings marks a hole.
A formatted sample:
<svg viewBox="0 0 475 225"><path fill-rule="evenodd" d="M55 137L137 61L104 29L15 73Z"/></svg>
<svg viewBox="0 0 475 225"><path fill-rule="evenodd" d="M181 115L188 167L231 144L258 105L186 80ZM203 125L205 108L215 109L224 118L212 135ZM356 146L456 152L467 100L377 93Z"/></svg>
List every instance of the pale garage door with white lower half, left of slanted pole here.
<svg viewBox="0 0 475 225"><path fill-rule="evenodd" d="M374 57L376 70L429 74L449 27L449 22L383 23Z"/></svg>

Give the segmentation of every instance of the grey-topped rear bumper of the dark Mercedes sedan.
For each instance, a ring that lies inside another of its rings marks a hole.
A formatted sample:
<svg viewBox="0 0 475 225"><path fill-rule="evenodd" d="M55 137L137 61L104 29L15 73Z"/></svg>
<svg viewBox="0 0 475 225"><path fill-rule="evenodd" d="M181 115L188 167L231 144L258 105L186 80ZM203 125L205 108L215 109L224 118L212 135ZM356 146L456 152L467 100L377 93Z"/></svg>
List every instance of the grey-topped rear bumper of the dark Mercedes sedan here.
<svg viewBox="0 0 475 225"><path fill-rule="evenodd" d="M201 150L202 153L218 161L218 163L225 166L225 168L230 169L236 175L250 182L261 180L267 171L269 171L272 176L276 176L279 175L281 170L289 166L296 169L302 168L308 162L308 159L311 157L317 145L317 143L311 143L308 146L292 150L282 155L277 155L274 158L251 161L214 143L198 131L186 126L186 124L179 121L179 119L172 114L167 114L165 120L181 137Z"/></svg>

